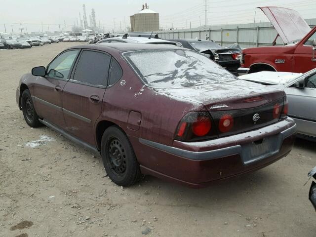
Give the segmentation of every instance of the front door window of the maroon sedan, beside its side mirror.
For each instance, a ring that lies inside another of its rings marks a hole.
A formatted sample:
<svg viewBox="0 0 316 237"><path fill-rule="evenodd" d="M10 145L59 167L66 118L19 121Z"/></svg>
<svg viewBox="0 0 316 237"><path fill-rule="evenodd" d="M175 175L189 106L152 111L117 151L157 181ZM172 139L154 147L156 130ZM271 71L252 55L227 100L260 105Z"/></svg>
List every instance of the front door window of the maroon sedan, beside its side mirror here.
<svg viewBox="0 0 316 237"><path fill-rule="evenodd" d="M68 79L70 69L76 60L79 50L67 51L60 54L47 68L47 75L53 78Z"/></svg>

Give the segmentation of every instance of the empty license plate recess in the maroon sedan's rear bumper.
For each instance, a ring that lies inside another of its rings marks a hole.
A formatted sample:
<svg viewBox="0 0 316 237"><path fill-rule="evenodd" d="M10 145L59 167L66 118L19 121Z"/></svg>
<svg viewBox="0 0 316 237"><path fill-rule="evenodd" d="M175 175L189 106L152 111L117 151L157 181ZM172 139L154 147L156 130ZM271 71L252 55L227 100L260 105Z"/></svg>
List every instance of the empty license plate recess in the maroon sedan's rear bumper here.
<svg viewBox="0 0 316 237"><path fill-rule="evenodd" d="M247 165L279 152L279 136L266 137L241 146L242 162Z"/></svg>

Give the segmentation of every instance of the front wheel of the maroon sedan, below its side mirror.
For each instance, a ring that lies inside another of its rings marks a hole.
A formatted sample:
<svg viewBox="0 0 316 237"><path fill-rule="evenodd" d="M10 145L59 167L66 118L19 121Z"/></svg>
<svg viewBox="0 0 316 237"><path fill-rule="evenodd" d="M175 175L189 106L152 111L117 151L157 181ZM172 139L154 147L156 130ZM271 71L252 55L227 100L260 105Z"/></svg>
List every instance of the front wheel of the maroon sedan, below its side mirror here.
<svg viewBox="0 0 316 237"><path fill-rule="evenodd" d="M24 90L22 93L21 106L26 123L30 127L39 127L41 125L39 116L34 109L31 93L28 89Z"/></svg>

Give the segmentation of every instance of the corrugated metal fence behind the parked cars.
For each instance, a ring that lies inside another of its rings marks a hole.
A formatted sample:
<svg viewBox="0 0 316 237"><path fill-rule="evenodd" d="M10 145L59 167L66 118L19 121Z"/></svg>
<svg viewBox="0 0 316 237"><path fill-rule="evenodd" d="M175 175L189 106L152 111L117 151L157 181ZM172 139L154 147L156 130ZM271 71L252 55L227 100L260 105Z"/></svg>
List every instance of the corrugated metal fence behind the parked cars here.
<svg viewBox="0 0 316 237"><path fill-rule="evenodd" d="M306 19L311 28L316 26L316 19ZM161 39L202 39L213 40L222 46L229 46L238 43L243 48L271 46L276 38L276 30L271 22L231 24L231 25L208 25L194 29L160 31ZM282 45L280 38L276 40L276 45Z"/></svg>

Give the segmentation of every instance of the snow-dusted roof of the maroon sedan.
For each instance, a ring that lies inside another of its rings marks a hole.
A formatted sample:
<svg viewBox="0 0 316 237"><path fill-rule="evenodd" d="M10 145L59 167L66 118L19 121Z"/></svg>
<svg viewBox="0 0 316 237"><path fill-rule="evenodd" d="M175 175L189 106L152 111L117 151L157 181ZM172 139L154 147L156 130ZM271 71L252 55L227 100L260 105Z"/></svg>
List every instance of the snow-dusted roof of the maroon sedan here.
<svg viewBox="0 0 316 237"><path fill-rule="evenodd" d="M158 49L182 49L186 48L177 47L170 44L151 44L151 43L96 43L96 44L83 44L70 47L83 48L83 49L96 49L107 52L109 49L114 49L119 52L137 51L137 50L158 50Z"/></svg>

